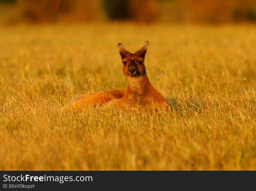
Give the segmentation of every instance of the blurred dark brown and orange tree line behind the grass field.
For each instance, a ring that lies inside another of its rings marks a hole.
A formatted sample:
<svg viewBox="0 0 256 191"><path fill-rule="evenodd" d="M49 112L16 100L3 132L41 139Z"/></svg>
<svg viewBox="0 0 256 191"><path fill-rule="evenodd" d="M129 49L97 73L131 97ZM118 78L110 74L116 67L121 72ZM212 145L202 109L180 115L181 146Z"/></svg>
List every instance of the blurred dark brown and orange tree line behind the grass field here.
<svg viewBox="0 0 256 191"><path fill-rule="evenodd" d="M256 0L0 0L13 22L256 22ZM1 15L2 16L2 15Z"/></svg>

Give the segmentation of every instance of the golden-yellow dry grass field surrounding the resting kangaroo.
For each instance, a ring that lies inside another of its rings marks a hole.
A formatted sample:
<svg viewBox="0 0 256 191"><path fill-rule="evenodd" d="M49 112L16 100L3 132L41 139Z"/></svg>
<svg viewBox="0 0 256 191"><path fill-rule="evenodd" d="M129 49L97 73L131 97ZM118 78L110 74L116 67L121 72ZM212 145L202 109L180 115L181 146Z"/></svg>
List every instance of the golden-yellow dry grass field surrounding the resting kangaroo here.
<svg viewBox="0 0 256 191"><path fill-rule="evenodd" d="M0 170L256 170L256 26L0 27ZM149 40L163 113L64 113L127 85L117 51Z"/></svg>

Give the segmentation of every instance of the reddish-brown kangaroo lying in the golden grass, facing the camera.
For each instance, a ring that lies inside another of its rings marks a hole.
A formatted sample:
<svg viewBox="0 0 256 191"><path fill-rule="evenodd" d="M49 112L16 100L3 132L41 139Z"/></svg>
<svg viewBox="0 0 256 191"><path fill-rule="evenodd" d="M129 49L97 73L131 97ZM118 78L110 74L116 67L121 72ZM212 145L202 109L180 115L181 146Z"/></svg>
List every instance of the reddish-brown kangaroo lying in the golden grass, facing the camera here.
<svg viewBox="0 0 256 191"><path fill-rule="evenodd" d="M150 84L144 66L148 41L134 54L118 44L118 51L122 57L123 73L126 76L128 86L125 90L109 90L81 95L62 109L89 105L143 107L146 109L167 110L168 104L163 96Z"/></svg>

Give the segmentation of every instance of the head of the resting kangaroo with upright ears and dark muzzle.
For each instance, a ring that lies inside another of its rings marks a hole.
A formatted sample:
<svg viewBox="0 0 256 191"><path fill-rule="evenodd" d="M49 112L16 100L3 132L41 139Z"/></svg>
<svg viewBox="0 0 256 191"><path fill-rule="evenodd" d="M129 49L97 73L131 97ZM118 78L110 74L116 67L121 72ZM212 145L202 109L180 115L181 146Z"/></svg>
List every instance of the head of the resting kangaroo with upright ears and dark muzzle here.
<svg viewBox="0 0 256 191"><path fill-rule="evenodd" d="M118 51L122 57L123 72L127 77L139 77L146 74L144 66L144 58L147 52L148 41L136 51L134 54L127 51L127 49L119 43L117 45Z"/></svg>

